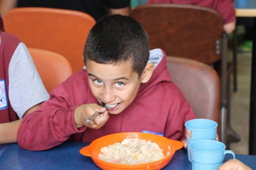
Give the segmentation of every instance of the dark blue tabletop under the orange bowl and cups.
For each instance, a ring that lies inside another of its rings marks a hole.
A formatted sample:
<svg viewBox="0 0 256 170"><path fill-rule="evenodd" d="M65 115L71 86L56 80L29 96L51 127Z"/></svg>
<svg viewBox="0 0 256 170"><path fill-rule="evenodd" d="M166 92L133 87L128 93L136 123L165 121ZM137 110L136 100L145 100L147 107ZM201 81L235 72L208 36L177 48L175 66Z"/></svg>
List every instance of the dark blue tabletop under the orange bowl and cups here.
<svg viewBox="0 0 256 170"><path fill-rule="evenodd" d="M28 151L21 149L17 143L0 145L0 169L8 170L64 170L85 169L98 170L90 157L83 156L79 150L88 143L66 141L63 144L45 151ZM3 150L1 154L1 150ZM229 154L225 161L229 159ZM256 169L256 156L236 155L236 158ZM186 150L178 150L164 170L191 170L191 163Z"/></svg>

